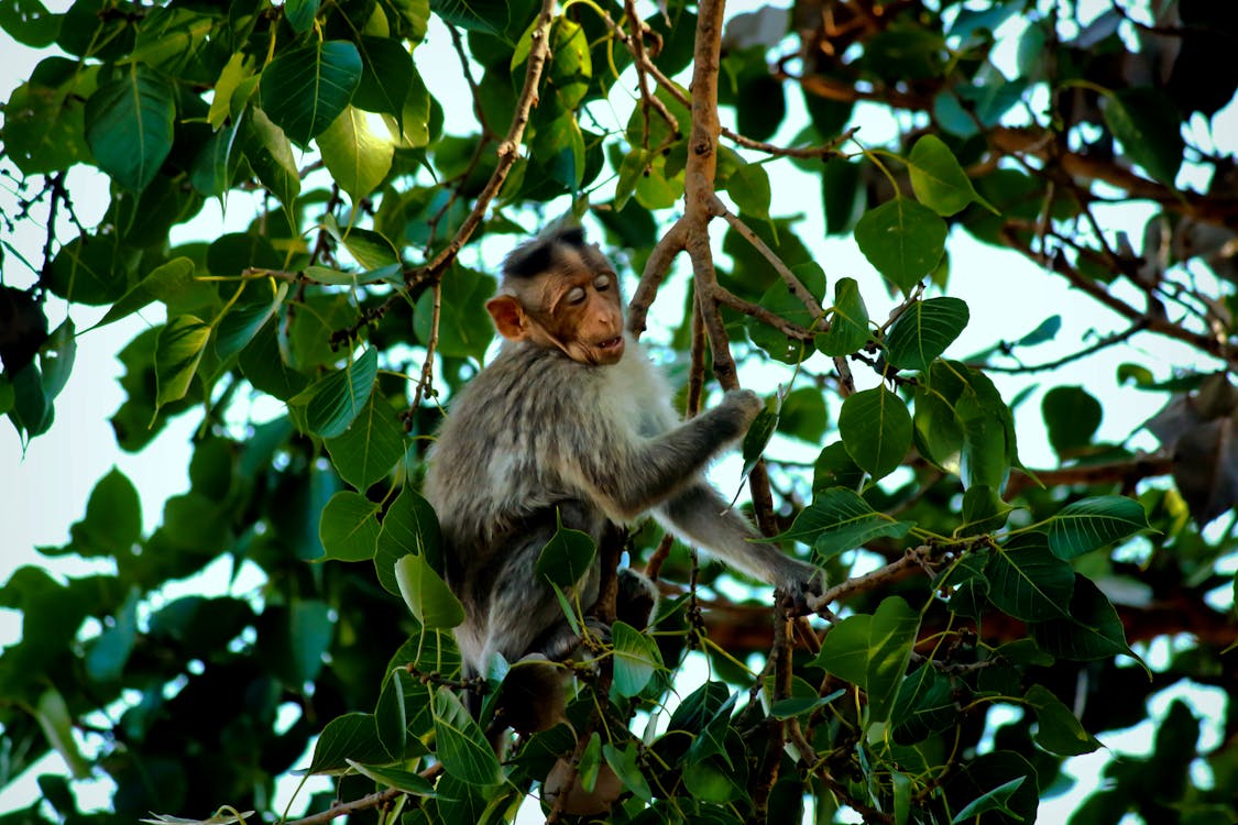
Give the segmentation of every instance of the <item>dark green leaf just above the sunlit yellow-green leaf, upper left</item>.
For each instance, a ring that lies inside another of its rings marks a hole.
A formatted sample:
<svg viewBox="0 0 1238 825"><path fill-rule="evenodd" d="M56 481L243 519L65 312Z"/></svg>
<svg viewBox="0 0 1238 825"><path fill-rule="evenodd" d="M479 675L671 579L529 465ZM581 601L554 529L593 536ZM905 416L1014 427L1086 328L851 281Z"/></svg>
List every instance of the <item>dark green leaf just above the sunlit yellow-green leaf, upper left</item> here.
<svg viewBox="0 0 1238 825"><path fill-rule="evenodd" d="M262 69L262 110L288 140L306 146L339 118L361 80L361 56L344 40L314 42Z"/></svg>

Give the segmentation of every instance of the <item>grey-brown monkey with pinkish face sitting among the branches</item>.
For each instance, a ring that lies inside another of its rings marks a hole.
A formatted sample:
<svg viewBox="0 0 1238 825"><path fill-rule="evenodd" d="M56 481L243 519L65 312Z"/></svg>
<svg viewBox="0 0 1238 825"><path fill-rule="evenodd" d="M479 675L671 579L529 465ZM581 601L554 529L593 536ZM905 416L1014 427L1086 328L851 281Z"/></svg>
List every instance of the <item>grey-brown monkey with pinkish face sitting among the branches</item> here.
<svg viewBox="0 0 1238 825"><path fill-rule="evenodd" d="M582 229L560 226L513 250L487 309L500 351L451 402L423 492L441 523L444 578L465 611L456 628L464 677L485 675L495 654L513 663L500 705L510 727L527 733L562 720L562 677L547 670L582 641L534 571L560 524L600 543L649 512L792 596L820 592L820 569L760 541L703 476L747 432L761 400L728 391L681 422L666 380L624 331L615 271ZM587 612L599 580L595 559L565 594ZM620 611L643 627L651 583L624 568L620 594ZM517 673L526 678L509 685Z"/></svg>

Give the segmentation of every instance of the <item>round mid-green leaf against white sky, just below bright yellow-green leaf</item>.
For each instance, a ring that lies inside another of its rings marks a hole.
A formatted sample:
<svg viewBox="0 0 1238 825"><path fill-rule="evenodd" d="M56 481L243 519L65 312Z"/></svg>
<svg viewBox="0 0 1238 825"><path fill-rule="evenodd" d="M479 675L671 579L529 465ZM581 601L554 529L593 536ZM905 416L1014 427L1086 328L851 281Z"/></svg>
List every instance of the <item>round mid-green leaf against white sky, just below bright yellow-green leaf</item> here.
<svg viewBox="0 0 1238 825"><path fill-rule="evenodd" d="M928 207L895 198L864 213L855 242L883 277L907 293L946 251L946 221Z"/></svg>

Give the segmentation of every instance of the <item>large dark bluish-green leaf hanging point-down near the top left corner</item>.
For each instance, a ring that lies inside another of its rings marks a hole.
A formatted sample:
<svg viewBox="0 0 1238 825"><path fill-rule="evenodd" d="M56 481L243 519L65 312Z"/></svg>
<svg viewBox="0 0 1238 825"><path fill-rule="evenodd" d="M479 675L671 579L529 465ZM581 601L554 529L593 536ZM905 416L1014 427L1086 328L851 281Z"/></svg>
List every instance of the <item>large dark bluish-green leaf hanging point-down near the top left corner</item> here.
<svg viewBox="0 0 1238 825"><path fill-rule="evenodd" d="M140 63L124 67L85 104L85 141L99 168L118 186L146 188L172 151L176 92Z"/></svg>

